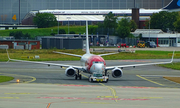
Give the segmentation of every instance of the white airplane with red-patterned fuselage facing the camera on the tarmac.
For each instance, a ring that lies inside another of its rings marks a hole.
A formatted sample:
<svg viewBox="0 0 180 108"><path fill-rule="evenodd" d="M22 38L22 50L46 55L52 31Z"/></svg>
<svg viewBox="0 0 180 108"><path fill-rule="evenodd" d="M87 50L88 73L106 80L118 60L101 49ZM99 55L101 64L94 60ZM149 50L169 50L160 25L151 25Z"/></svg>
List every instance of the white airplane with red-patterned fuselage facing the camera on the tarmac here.
<svg viewBox="0 0 180 108"><path fill-rule="evenodd" d="M7 50L7 49L6 49ZM64 52L56 52L59 54L65 54L75 57L80 57L81 66L73 66L73 65L66 65L66 64L57 64L57 63L48 63L48 62L34 62L34 61L26 61L26 60L17 60L17 59L11 59L9 57L9 53L7 50L7 56L8 61L17 61L17 62L26 62L26 63L36 63L36 64L45 64L48 66L60 66L66 67L65 75L68 77L75 77L75 79L81 80L81 74L79 71L82 71L84 73L93 74L95 72L101 73L105 76L107 75L108 70L112 70L111 74L114 78L120 78L123 75L122 68L124 67L136 67L136 66L145 66L145 65L156 65L156 64L168 64L173 62L174 52L172 55L171 61L168 62L156 62L156 63L145 63L145 64L131 64L131 65L117 65L117 66L106 66L105 60L102 58L102 56L111 55L111 54L117 54L118 52L114 53L107 53L107 54L100 54L100 55L94 55L91 54L89 51L89 40L88 40L88 21L86 21L86 53L84 55L76 55L76 54L70 54L70 53L64 53Z"/></svg>

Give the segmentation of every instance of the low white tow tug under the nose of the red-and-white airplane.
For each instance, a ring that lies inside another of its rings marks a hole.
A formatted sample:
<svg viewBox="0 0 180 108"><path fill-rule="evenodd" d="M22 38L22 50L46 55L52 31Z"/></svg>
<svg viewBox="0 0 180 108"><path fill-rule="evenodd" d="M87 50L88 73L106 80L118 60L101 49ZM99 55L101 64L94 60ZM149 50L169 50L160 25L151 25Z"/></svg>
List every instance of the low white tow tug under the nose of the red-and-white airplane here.
<svg viewBox="0 0 180 108"><path fill-rule="evenodd" d="M89 82L108 82L109 76L104 76L101 73L94 72L89 76Z"/></svg>

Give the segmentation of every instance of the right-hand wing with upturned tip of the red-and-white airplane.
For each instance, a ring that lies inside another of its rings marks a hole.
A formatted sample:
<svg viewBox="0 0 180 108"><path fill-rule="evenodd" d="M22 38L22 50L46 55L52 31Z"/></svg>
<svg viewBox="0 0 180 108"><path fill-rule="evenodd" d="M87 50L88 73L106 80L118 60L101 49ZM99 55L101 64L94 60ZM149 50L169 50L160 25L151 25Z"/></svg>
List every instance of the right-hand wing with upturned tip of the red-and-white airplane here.
<svg viewBox="0 0 180 108"><path fill-rule="evenodd" d="M147 66L147 65L157 65L157 64L168 64L173 62L174 52L172 55L172 59L169 62L155 62L155 63L144 63L144 64L131 64L131 65L120 65L120 66L109 66L106 67L106 70L112 70L114 68L125 68L125 67L136 67L136 66Z"/></svg>

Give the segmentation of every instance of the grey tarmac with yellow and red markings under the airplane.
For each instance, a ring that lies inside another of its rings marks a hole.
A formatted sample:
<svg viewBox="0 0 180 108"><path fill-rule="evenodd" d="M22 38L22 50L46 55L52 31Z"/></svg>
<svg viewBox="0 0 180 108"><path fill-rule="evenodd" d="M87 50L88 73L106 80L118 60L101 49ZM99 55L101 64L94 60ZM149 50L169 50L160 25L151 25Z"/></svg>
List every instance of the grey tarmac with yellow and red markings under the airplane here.
<svg viewBox="0 0 180 108"><path fill-rule="evenodd" d="M108 66L149 63L162 60L108 60ZM175 59L180 61L179 59ZM79 61L58 61L71 65ZM180 76L179 70L158 66L124 68L121 78L110 75L108 83L88 82L66 77L56 66L21 62L0 63L0 75L13 76L14 80L0 84L0 108L179 108L180 84L163 76ZM20 79L20 83L16 80Z"/></svg>

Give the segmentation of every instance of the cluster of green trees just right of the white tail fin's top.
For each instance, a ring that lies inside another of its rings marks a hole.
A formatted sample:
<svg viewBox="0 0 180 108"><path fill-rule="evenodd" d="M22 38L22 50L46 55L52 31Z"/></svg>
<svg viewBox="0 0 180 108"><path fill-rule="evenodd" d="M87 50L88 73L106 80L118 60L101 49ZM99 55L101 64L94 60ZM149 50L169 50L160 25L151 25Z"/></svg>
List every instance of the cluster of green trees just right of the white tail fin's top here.
<svg viewBox="0 0 180 108"><path fill-rule="evenodd" d="M124 16L124 18L118 20L118 16L114 16L112 12L109 12L104 17L104 22L98 23L96 28L93 28L92 26L89 27L91 34L98 33L116 35L120 38L126 38L132 37L133 35L130 32L134 32L137 29L137 25L134 20L130 20L130 18L127 16Z"/></svg>

